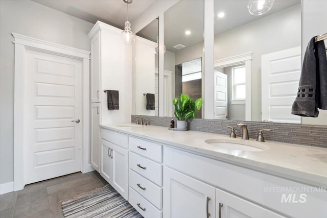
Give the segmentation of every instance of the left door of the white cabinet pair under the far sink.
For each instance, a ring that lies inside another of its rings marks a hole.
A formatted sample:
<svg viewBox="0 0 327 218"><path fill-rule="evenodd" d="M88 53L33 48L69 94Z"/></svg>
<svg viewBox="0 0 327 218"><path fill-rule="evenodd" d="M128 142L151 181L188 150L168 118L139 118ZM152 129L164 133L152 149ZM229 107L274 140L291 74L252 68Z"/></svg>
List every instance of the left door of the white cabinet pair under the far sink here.
<svg viewBox="0 0 327 218"><path fill-rule="evenodd" d="M111 143L101 139L101 166L100 166L100 175L110 184L111 180Z"/></svg>

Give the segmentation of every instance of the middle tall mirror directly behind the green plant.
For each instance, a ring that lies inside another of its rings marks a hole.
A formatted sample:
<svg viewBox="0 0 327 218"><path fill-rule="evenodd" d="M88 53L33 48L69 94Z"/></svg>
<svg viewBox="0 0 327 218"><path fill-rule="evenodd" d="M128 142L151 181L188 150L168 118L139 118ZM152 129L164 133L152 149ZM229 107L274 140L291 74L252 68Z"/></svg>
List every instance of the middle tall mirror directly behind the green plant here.
<svg viewBox="0 0 327 218"><path fill-rule="evenodd" d="M164 17L164 116L172 116L172 100L181 93L203 96L204 1L181 0ZM203 118L202 110L196 115Z"/></svg>

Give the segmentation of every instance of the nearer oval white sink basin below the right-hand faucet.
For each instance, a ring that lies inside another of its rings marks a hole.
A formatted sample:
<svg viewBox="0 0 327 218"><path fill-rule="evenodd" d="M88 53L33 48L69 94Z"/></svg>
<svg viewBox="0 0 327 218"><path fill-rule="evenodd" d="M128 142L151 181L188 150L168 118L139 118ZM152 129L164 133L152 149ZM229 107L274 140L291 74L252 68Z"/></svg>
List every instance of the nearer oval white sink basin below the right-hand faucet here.
<svg viewBox="0 0 327 218"><path fill-rule="evenodd" d="M217 146L227 150L248 151L248 152L262 152L268 151L269 147L260 142L255 141L240 141L232 139L207 139L205 143Z"/></svg>

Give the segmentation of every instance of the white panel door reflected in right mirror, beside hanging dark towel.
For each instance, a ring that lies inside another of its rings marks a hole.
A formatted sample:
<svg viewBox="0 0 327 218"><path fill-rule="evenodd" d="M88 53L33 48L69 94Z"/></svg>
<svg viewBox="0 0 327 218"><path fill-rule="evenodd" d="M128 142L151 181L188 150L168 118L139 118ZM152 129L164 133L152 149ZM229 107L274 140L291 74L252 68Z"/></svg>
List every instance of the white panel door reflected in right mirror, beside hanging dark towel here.
<svg viewBox="0 0 327 218"><path fill-rule="evenodd" d="M291 114L301 73L301 47L263 55L261 58L262 121L301 123Z"/></svg>

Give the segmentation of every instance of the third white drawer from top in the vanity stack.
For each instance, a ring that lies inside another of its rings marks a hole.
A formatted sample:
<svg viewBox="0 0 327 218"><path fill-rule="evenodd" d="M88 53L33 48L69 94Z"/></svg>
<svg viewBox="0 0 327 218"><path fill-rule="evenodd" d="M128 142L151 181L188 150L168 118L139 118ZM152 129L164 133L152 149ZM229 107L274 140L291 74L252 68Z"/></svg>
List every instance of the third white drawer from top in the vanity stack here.
<svg viewBox="0 0 327 218"><path fill-rule="evenodd" d="M143 176L129 170L129 180L128 184L137 193L142 195L148 201L150 201L154 206L161 210L161 198L162 189L153 182L150 182Z"/></svg>

